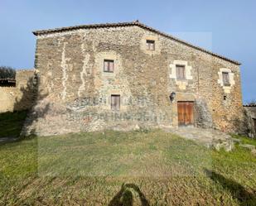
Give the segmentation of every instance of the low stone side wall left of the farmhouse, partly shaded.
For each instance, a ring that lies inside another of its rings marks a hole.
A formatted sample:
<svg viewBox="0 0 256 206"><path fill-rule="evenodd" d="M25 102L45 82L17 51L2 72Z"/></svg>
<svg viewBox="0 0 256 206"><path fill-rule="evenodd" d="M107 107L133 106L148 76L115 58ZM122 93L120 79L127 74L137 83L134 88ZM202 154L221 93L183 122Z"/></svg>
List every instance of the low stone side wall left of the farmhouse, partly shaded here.
<svg viewBox="0 0 256 206"><path fill-rule="evenodd" d="M31 108L33 93L34 69L17 70L16 86L0 86L0 113L19 111Z"/></svg>

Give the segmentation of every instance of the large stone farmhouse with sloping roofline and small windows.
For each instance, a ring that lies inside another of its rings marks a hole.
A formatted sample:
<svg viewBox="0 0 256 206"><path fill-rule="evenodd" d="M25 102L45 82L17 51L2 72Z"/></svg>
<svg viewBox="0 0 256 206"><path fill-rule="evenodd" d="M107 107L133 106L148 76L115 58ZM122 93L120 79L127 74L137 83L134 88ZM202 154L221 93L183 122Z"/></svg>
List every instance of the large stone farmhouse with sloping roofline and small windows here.
<svg viewBox="0 0 256 206"><path fill-rule="evenodd" d="M243 105L235 60L138 21L33 34L39 97L26 133L238 128Z"/></svg>

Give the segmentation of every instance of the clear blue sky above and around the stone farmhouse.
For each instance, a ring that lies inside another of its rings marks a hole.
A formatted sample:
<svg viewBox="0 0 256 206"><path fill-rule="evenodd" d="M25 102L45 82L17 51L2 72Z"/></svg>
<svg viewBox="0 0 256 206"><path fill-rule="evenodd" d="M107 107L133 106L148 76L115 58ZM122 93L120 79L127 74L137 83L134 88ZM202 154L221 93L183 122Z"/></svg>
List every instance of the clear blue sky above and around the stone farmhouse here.
<svg viewBox="0 0 256 206"><path fill-rule="evenodd" d="M140 22L239 60L244 102L256 99L256 1L0 0L0 65L33 68L31 31L102 22Z"/></svg>

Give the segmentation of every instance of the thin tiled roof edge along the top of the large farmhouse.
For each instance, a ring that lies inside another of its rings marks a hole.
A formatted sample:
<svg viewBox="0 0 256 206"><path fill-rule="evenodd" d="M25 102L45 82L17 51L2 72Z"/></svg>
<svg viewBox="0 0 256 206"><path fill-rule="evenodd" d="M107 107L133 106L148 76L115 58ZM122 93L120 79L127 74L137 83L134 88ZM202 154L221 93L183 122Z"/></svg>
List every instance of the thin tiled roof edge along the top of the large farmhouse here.
<svg viewBox="0 0 256 206"><path fill-rule="evenodd" d="M62 31L73 31L73 30L77 30L77 29L94 29L94 28L108 28L108 27L123 27L123 26L139 26L143 29L146 29L148 31L152 31L152 32L155 32L159 35L162 35L162 36L165 36L171 40L174 40L174 41L177 41L177 42L180 42L181 44L183 45L186 45L186 46L190 46L196 50L200 50L200 51L203 51L209 55L213 55L215 57L218 57L222 60L227 60L231 63L234 63L235 65L241 65L241 63L239 63L238 61L236 60L231 60L229 58L226 58L225 56L223 55L218 55L216 53L213 53L209 50L205 50L204 48L201 48L199 46L194 46L194 45L191 45L191 43L188 43L186 41L182 41L174 36L171 36L167 33L164 33L162 31L158 31L150 26L147 26L145 24L142 24L141 22L138 22L138 21L135 21L135 22L119 22L119 23L104 23L104 24L88 24L88 25L80 25L80 26L68 26L68 27L60 27L60 28L56 28L56 29L47 29L47 30L40 30L40 31L32 31L32 33L36 36L40 36L40 35L45 35L45 34L51 34L51 33L56 33L56 32L62 32Z"/></svg>

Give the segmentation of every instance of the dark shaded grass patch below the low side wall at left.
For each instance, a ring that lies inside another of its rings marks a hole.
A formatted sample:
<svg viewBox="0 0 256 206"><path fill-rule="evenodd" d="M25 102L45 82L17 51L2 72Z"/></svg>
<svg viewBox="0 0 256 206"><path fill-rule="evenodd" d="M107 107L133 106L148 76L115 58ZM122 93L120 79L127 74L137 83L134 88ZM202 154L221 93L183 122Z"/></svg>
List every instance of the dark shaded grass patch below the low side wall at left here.
<svg viewBox="0 0 256 206"><path fill-rule="evenodd" d="M27 117L27 111L0 113L0 138L18 137Z"/></svg>

